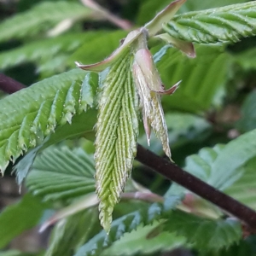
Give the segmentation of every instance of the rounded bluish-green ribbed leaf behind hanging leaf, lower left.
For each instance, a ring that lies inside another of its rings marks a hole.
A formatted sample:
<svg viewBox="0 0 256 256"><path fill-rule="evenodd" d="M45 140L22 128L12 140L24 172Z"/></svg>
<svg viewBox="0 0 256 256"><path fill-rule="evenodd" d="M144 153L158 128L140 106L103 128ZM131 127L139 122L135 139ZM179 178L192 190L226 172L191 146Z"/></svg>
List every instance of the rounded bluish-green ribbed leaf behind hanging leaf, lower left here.
<svg viewBox="0 0 256 256"><path fill-rule="evenodd" d="M86 195L95 191L95 166L82 148L46 148L32 165L26 186L44 201Z"/></svg>

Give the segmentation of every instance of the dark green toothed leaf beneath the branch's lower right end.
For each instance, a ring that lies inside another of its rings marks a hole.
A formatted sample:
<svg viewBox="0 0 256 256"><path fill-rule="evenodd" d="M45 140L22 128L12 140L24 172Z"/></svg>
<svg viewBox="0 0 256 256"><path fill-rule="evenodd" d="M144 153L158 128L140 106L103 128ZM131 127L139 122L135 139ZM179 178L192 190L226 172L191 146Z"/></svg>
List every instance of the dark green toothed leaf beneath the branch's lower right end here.
<svg viewBox="0 0 256 256"><path fill-rule="evenodd" d="M230 247L241 240L242 235L238 220L212 220L181 211L173 211L163 225L164 230L186 237L194 247L203 251L217 251L223 247Z"/></svg>

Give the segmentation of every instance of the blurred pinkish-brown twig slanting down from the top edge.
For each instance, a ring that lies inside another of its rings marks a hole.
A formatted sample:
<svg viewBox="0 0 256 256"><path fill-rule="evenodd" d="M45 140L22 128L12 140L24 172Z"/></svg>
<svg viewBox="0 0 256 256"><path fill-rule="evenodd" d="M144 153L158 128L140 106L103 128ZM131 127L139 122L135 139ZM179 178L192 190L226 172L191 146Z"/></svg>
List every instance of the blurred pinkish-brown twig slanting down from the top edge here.
<svg viewBox="0 0 256 256"><path fill-rule="evenodd" d="M96 13L102 15L102 17L106 18L107 20L111 21L116 26L124 30L131 29L131 22L129 20L123 20L119 17L111 14L108 9L104 9L101 5L95 3L93 0L80 0L85 6L89 7L96 11Z"/></svg>

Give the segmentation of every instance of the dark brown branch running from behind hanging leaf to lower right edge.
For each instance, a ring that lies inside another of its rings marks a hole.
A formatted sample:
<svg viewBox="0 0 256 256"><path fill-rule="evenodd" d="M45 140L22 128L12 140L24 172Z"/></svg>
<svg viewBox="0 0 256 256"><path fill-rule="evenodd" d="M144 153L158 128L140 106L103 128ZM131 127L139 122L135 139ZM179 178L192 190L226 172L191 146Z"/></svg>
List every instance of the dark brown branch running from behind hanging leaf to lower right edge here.
<svg viewBox="0 0 256 256"><path fill-rule="evenodd" d="M196 195L200 195L207 201L212 202L212 204L229 212L236 218L241 219L241 221L253 230L256 230L256 212L249 207L244 206L239 201L236 201L229 195L225 195L217 189L214 189L212 186L201 181L201 179L189 174L189 172L183 171L183 169L172 164L171 161L161 158L139 144L137 146L136 158L145 166L148 166L155 172L160 173L184 188L189 189Z"/></svg>

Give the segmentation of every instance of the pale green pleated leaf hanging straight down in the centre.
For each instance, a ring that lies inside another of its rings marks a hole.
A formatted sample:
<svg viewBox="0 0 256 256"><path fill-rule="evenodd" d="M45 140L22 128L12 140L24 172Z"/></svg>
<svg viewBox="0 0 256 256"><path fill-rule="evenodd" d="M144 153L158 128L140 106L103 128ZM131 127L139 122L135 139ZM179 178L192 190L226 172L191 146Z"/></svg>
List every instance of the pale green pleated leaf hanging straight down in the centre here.
<svg viewBox="0 0 256 256"><path fill-rule="evenodd" d="M137 153L138 99L129 50L110 67L102 90L96 124L96 193L102 226L109 230L113 207Z"/></svg>

